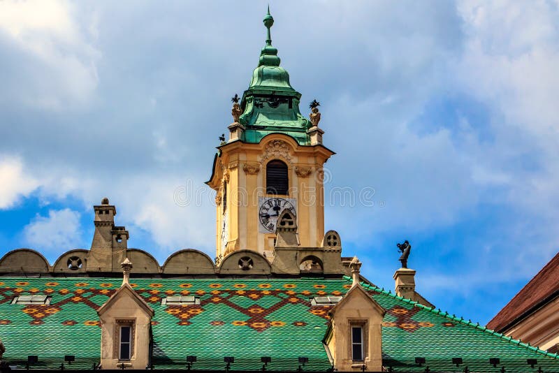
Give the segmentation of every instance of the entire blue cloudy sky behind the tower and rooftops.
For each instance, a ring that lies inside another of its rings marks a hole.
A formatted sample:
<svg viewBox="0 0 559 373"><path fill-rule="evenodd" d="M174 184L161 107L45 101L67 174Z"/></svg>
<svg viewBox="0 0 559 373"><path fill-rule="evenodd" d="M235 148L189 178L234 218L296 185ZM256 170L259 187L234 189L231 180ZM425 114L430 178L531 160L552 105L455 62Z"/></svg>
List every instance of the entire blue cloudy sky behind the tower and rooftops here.
<svg viewBox="0 0 559 373"><path fill-rule="evenodd" d="M160 263L187 247L214 256L203 182L266 6L0 0L0 254L31 247L52 263L89 248L108 196L130 247ZM393 288L395 244L409 240L417 290L486 323L558 251L559 2L270 9L302 110L321 102L337 152L326 228L343 254Z"/></svg>

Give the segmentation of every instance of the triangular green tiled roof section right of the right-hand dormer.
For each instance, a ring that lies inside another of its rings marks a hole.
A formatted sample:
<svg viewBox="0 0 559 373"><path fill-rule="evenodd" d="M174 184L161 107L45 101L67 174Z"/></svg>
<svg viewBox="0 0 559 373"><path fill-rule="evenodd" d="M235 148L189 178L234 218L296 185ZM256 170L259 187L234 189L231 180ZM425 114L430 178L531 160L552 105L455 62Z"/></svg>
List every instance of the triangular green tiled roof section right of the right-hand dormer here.
<svg viewBox="0 0 559 373"><path fill-rule="evenodd" d="M383 364L393 370L424 372L416 357L426 358L426 365L435 372L463 372L467 366L474 372L536 372L527 359L537 359L544 372L559 371L555 353L547 353L528 344L488 330L479 323L457 318L398 297L376 286L363 284L373 291L373 298L386 309L382 323ZM463 365L451 364L452 358L462 358ZM500 358L500 365L493 367L489 358Z"/></svg>

